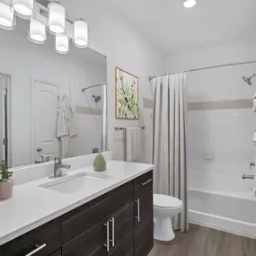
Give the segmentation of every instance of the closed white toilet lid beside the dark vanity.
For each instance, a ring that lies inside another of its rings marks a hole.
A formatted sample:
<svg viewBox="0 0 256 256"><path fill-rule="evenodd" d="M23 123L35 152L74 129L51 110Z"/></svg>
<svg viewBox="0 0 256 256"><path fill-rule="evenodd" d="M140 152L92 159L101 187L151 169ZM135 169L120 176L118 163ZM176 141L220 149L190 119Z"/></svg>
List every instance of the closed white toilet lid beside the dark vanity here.
<svg viewBox="0 0 256 256"><path fill-rule="evenodd" d="M154 194L154 207L181 208L182 205L183 204L180 199L175 199L171 196Z"/></svg>

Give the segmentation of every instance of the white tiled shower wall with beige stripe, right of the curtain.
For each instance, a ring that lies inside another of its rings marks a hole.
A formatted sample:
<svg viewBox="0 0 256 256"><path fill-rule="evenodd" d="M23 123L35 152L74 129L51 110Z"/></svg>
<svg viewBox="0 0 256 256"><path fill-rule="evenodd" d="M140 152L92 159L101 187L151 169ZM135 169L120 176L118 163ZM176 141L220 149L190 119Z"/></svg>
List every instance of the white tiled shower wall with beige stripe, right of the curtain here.
<svg viewBox="0 0 256 256"><path fill-rule="evenodd" d="M242 76L253 73L256 65L208 69L187 76L188 166L190 178L201 179L196 182L199 186L211 177L208 173L220 175L227 187L232 181L242 181L243 173L252 173L256 79L249 86Z"/></svg>

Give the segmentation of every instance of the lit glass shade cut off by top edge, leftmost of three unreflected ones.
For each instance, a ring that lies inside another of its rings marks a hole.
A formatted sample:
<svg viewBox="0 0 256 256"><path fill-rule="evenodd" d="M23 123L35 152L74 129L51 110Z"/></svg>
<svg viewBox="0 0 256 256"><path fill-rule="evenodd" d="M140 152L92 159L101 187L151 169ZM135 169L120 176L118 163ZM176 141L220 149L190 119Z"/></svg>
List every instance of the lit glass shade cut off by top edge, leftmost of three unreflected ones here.
<svg viewBox="0 0 256 256"><path fill-rule="evenodd" d="M34 0L13 0L11 10L15 15L23 19L30 19L35 14Z"/></svg>

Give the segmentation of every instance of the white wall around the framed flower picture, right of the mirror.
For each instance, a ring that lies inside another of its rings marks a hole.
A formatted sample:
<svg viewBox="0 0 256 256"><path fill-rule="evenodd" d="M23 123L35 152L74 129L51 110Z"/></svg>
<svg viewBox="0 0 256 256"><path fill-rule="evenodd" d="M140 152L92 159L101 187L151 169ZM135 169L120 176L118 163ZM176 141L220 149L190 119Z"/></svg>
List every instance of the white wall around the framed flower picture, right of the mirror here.
<svg viewBox="0 0 256 256"><path fill-rule="evenodd" d="M152 156L152 122L149 113L142 109L142 99L152 99L147 80L148 75L163 72L162 57L146 38L123 20L108 1L62 1L71 19L83 17L90 24L90 44L107 56L108 60L108 120L109 147L114 151L122 150L119 141L114 141L114 127L137 126L146 124L144 131L144 151L146 162ZM139 77L140 117L138 121L115 119L115 66ZM119 137L119 135L117 135Z"/></svg>

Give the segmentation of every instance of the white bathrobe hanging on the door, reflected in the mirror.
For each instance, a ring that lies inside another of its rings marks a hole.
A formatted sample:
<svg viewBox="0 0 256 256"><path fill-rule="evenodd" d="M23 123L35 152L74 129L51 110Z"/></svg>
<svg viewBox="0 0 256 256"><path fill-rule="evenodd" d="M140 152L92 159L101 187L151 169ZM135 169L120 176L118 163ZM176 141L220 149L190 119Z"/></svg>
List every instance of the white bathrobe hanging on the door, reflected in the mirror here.
<svg viewBox="0 0 256 256"><path fill-rule="evenodd" d="M61 158L66 158L71 137L75 137L74 111L66 98L57 103L57 138L60 141L59 153Z"/></svg>

